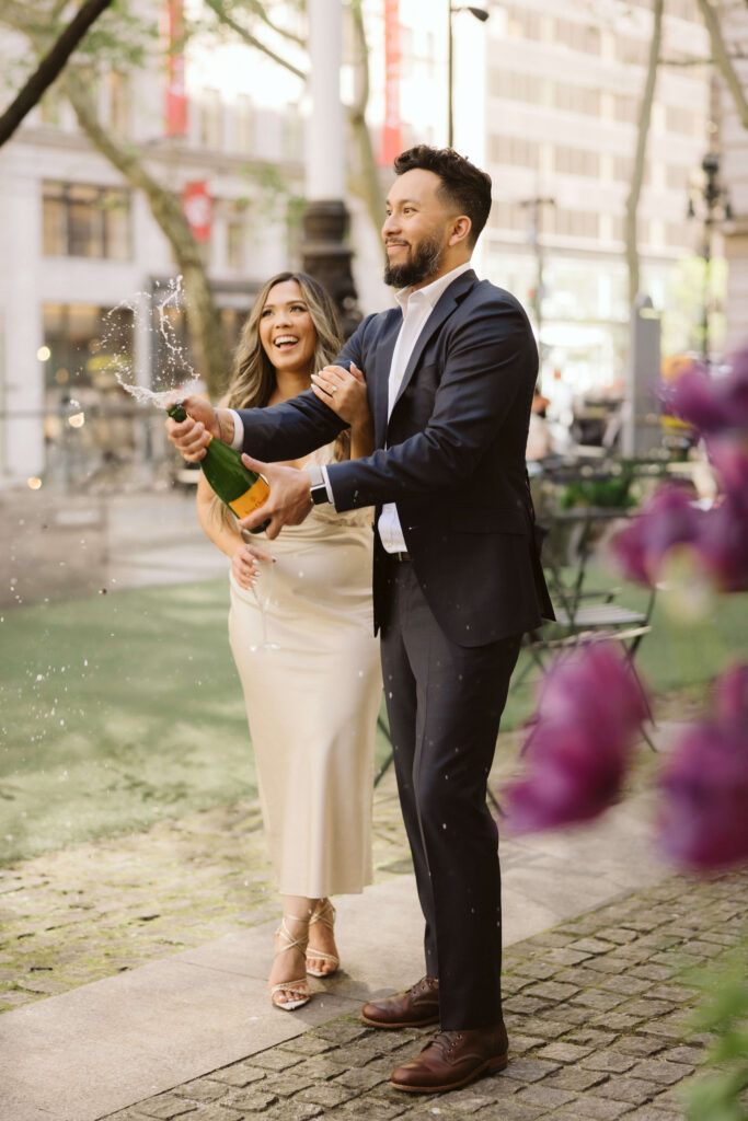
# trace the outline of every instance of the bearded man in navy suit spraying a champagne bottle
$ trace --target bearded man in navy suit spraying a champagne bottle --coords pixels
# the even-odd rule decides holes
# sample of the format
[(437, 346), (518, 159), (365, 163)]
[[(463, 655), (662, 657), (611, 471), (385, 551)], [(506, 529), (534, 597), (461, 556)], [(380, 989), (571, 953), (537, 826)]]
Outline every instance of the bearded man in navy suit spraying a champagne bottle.
[[(187, 458), (210, 435), (270, 483), (268, 536), (316, 502), (375, 507), (375, 623), (403, 815), (425, 918), (426, 975), (370, 1001), (367, 1023), (438, 1023), (393, 1073), (415, 1093), (453, 1090), (501, 1069), (498, 833), (487, 778), (521, 634), (553, 618), (535, 544), (525, 446), (537, 348), (509, 293), (479, 280), (470, 257), (491, 206), (490, 177), (451, 149), (418, 146), (395, 161), (382, 237), (398, 307), (371, 315), (317, 390), (273, 408), (168, 421)], [(334, 438), (333, 402), (351, 364), (363, 371), (377, 451), (307, 470), (298, 458)]]

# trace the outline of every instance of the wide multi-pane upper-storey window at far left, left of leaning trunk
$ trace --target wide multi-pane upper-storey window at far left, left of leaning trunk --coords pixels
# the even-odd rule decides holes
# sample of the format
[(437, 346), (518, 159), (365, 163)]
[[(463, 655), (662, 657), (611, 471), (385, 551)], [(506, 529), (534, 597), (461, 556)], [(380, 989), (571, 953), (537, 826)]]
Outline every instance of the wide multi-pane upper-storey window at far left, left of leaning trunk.
[(46, 180), (41, 215), (46, 257), (132, 257), (129, 191)]

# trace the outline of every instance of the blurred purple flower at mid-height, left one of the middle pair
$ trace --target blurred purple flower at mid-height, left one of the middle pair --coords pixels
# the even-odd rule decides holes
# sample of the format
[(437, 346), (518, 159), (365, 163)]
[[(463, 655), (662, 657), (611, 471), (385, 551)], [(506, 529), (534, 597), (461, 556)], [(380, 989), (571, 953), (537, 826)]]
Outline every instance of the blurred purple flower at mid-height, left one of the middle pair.
[(629, 580), (652, 586), (673, 546), (699, 541), (703, 519), (703, 510), (692, 504), (684, 490), (661, 487), (613, 538), (613, 558)]

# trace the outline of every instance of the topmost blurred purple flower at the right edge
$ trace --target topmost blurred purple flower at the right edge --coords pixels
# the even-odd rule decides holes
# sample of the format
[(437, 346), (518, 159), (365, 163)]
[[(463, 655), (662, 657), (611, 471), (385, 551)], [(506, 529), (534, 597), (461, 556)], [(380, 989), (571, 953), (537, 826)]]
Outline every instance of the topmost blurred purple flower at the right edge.
[(693, 364), (662, 390), (668, 409), (704, 434), (748, 427), (748, 348), (738, 351), (724, 377)]

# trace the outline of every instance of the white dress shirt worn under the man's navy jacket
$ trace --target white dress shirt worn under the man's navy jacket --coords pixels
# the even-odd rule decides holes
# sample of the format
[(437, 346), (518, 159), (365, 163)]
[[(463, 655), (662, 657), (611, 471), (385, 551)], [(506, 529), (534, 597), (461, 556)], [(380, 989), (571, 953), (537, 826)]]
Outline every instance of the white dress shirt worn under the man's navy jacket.
[[(389, 382), (387, 389), (388, 420), (393, 413), (393, 408), (395, 407), (397, 393), (403, 382), (410, 355), (415, 350), (421, 332), (428, 321), (428, 316), (434, 311), (440, 297), (446, 288), (449, 288), (452, 281), (456, 280), (459, 276), (462, 276), (462, 274), (467, 272), (470, 268), (470, 261), (465, 261), (463, 265), (458, 265), (455, 269), (452, 269), (450, 272), (445, 272), (443, 277), (440, 277), (437, 280), (433, 280), (423, 288), (417, 288), (415, 291), (413, 288), (400, 288), (399, 291), (395, 293), (395, 299), (399, 304), (403, 312), (403, 325), (400, 326), (400, 331), (395, 343), (393, 362), (389, 368)], [(243, 426), (239, 414), (233, 409), (230, 409), (230, 411), (233, 416), (233, 442), (231, 446), (240, 448), (243, 443)], [(323, 466), (322, 473), (327, 488), (327, 498), (334, 504), (334, 497), (327, 478), (327, 469)], [(400, 519), (398, 517), (397, 506), (395, 502), (388, 502), (382, 507), (381, 515), (379, 516), (378, 528), (381, 543), (388, 553), (406, 552), (407, 547), (405, 544), (405, 537), (403, 536), (403, 528), (400, 526)]]

